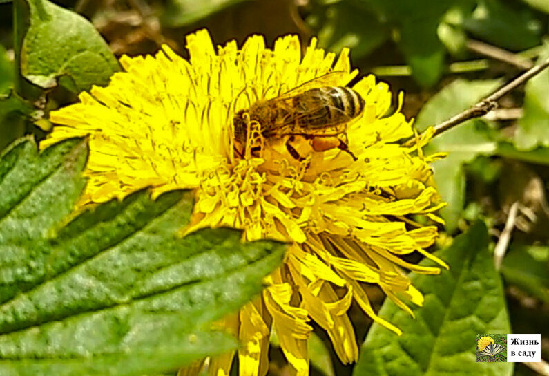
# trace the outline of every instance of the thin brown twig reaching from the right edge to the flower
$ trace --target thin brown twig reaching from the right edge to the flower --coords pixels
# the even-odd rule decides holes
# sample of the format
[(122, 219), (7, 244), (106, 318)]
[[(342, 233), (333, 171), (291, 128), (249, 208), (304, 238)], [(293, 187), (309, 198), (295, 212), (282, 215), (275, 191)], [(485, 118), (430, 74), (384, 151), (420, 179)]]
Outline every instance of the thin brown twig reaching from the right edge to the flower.
[[(510, 93), (510, 91), (512, 91), (514, 88), (517, 88), (517, 86), (528, 81), (528, 79), (534, 77), (535, 75), (543, 71), (543, 69), (547, 68), (548, 66), (549, 66), (549, 59), (546, 59), (543, 63), (537, 66), (534, 66), (533, 68), (529, 69), (525, 73), (519, 75), (519, 77), (513, 79), (508, 84), (501, 86), (501, 88), (495, 91), (492, 95), (485, 97), (483, 100), (474, 104), (469, 109), (466, 109), (465, 111), (453, 116), (452, 118), (446, 120), (445, 122), (436, 124), (434, 126), (433, 137), (449, 129), (452, 129), (454, 128), (454, 126), (461, 124), (467, 120), (470, 120), (473, 118), (480, 118), (481, 116), (486, 115), (493, 109), (497, 108), (498, 106), (497, 101), (501, 97), (503, 97), (503, 95)], [(416, 138), (411, 138), (410, 140), (407, 140), (403, 144), (403, 146), (412, 147), (415, 143), (416, 143)]]

